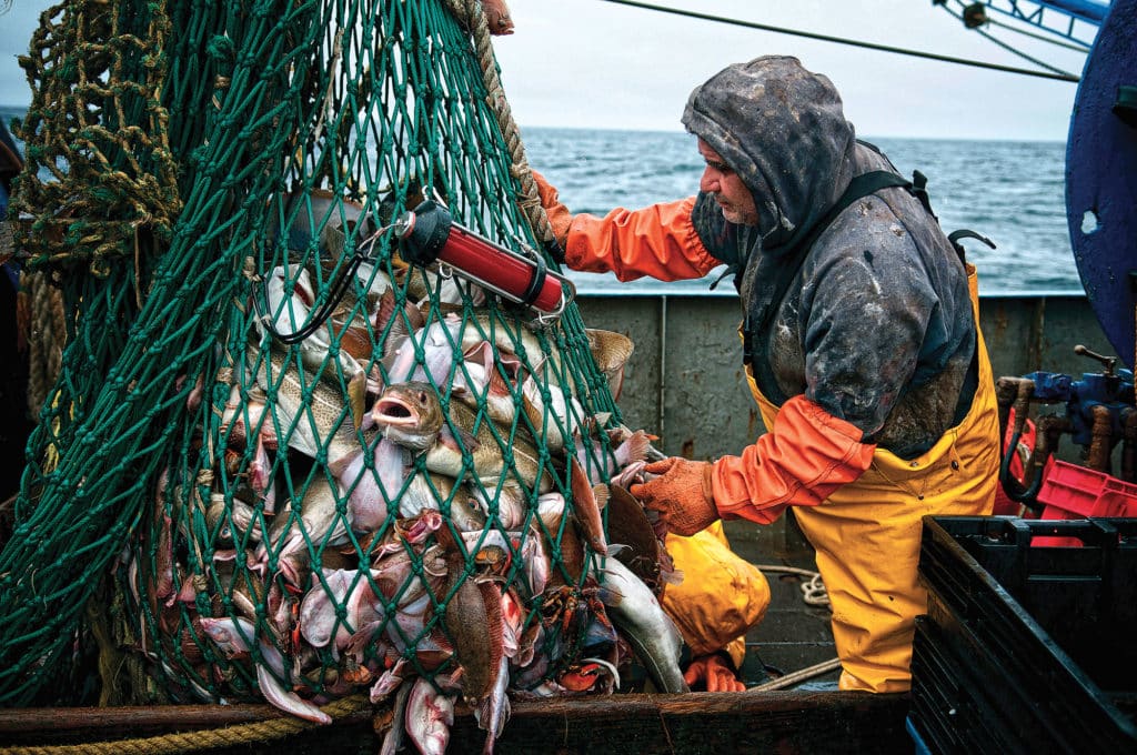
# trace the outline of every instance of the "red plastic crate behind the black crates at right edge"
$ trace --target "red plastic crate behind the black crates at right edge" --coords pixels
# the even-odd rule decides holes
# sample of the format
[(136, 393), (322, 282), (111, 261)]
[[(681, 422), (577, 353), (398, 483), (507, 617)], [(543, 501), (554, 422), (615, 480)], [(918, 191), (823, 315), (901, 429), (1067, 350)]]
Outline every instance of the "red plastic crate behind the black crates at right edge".
[[(1052, 459), (1038, 490), (1046, 507), (1044, 520), (1078, 520), (1089, 516), (1137, 516), (1137, 484), (1118, 480), (1085, 466)], [(1078, 547), (1076, 538), (1035, 538), (1034, 545)]]

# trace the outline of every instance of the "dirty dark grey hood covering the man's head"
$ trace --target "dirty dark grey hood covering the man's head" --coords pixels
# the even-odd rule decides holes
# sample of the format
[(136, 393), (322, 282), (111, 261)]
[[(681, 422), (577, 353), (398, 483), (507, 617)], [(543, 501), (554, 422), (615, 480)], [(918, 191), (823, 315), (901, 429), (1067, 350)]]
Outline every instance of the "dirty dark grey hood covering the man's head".
[(797, 58), (724, 68), (691, 92), (683, 126), (750, 190), (767, 252), (792, 248), (852, 179), (856, 135), (840, 96)]

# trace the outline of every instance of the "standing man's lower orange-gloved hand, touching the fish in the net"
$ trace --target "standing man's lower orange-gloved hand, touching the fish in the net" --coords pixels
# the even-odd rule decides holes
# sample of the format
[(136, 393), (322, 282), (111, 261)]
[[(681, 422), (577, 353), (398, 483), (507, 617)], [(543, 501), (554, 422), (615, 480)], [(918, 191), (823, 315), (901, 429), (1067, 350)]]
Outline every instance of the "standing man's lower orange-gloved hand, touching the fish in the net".
[(672, 456), (645, 466), (644, 472), (659, 476), (633, 484), (629, 492), (644, 508), (659, 512), (669, 532), (690, 537), (719, 520), (711, 492), (711, 470), (709, 462)]

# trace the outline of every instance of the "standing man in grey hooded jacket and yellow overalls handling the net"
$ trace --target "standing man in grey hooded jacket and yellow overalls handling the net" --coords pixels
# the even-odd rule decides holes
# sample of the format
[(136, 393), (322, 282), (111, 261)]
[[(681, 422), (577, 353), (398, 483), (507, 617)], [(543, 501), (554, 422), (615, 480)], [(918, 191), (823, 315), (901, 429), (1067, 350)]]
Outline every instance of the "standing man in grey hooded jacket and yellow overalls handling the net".
[(908, 689), (927, 611), (921, 517), (989, 514), (995, 495), (974, 268), (922, 186), (856, 139), (832, 83), (796, 58), (724, 68), (682, 122), (706, 163), (696, 197), (572, 215), (534, 174), (568, 267), (735, 274), (767, 432), (736, 456), (656, 462), (632, 493), (682, 536), (720, 518), (770, 524), (792, 506), (832, 605), (839, 687)]

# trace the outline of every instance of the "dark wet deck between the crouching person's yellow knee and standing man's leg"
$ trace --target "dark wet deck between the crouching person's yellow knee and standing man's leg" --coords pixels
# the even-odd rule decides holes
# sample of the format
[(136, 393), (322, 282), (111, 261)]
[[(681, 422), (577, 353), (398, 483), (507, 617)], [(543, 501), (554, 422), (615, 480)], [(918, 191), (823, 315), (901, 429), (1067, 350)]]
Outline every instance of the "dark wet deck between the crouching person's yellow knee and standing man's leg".
[[(739, 556), (758, 566), (790, 566), (816, 571), (813, 549), (792, 517), (772, 526), (727, 522), (727, 537)], [(764, 571), (771, 601), (762, 622), (746, 636), (746, 662), (740, 675), (747, 686), (799, 671), (837, 657), (827, 605), (812, 606), (803, 598), (808, 576)], [(804, 685), (836, 685), (840, 671), (814, 677)], [(789, 688), (800, 689), (800, 685)]]

